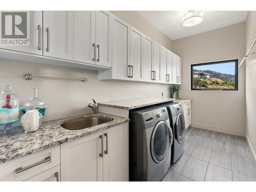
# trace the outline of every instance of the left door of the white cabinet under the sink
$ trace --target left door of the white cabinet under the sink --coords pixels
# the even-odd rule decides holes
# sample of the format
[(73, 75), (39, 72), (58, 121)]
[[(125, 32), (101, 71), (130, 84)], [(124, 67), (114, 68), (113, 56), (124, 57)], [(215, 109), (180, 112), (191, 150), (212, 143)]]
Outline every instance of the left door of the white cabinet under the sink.
[(101, 135), (97, 132), (60, 145), (61, 181), (102, 181)]

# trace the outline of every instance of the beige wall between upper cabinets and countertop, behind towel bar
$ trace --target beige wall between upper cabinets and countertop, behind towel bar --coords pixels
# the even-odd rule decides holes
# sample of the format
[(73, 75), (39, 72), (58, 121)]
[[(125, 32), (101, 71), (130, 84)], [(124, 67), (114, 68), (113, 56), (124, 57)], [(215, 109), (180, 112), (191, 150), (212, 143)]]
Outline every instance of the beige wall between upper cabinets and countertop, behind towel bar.
[[(140, 83), (98, 80), (97, 71), (40, 65), (23, 61), (0, 59), (0, 92), (6, 84), (22, 97), (21, 103), (31, 98), (33, 88), (38, 89), (38, 97), (48, 105), (44, 120), (52, 120), (74, 115), (92, 113), (88, 104), (97, 102), (132, 99), (141, 97), (169, 96), (168, 84)], [(41, 76), (86, 77), (88, 82), (24, 79), (26, 73)]]

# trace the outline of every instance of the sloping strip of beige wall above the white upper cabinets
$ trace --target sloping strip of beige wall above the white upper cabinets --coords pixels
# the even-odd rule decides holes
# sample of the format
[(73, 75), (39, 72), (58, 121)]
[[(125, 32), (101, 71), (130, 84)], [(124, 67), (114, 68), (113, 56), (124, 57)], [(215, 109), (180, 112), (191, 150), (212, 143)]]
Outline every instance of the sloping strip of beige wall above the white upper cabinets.
[(172, 40), (164, 33), (152, 25), (146, 18), (140, 15), (137, 11), (111, 11), (113, 14), (129, 23), (140, 32), (157, 41), (165, 48), (172, 51)]

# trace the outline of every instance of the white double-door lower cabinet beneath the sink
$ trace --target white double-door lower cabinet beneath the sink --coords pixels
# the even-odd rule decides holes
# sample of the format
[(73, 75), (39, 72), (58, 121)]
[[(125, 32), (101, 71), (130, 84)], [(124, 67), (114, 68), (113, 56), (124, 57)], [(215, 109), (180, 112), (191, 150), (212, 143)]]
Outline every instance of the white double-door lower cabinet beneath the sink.
[(61, 144), (61, 181), (127, 181), (128, 123)]

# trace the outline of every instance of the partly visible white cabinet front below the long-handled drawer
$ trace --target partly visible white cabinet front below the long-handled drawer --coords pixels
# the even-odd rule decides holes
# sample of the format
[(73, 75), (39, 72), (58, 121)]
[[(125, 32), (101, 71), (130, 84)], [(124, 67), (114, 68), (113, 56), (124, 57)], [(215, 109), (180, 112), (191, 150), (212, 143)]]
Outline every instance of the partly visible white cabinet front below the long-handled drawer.
[(57, 165), (25, 181), (60, 181), (60, 166)]

